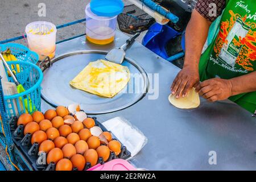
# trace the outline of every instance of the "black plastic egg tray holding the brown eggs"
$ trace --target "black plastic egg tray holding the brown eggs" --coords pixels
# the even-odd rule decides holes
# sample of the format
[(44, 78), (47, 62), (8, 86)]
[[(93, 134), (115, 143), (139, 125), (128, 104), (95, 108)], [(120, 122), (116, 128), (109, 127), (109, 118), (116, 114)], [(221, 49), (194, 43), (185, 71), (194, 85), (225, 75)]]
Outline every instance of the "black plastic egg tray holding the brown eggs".
[[(92, 117), (95, 121), (95, 125), (100, 127), (102, 131), (108, 131), (100, 122), (97, 121), (96, 117)], [(32, 168), (34, 168), (35, 171), (55, 171), (56, 164), (50, 163), (50, 164), (42, 164), (43, 159), (46, 161), (46, 153), (42, 152), (39, 154), (39, 144), (34, 143), (31, 144), (31, 137), (32, 135), (30, 133), (24, 135), (24, 126), (19, 125), (17, 126), (18, 119), (16, 117), (11, 118), (10, 120), (10, 129), (11, 129), (11, 137), (16, 145), (16, 147), (22, 151), (23, 155), (27, 159), (27, 161), (30, 163)], [(111, 131), (109, 131), (111, 133)], [(118, 140), (113, 134), (112, 138), (114, 140)], [(118, 140), (119, 141), (119, 140)], [(119, 141), (120, 142), (120, 141)], [(121, 143), (121, 142), (120, 142)], [(110, 153), (109, 159), (106, 162), (109, 162), (113, 159), (128, 159), (131, 156), (131, 152), (127, 150), (125, 146), (121, 143), (121, 152), (117, 156), (114, 152)], [(97, 164), (104, 164), (104, 160), (102, 158), (98, 159)], [(91, 164), (89, 162), (86, 162), (84, 171), (89, 169), (91, 167)], [(77, 171), (77, 168), (73, 168), (73, 171)]]

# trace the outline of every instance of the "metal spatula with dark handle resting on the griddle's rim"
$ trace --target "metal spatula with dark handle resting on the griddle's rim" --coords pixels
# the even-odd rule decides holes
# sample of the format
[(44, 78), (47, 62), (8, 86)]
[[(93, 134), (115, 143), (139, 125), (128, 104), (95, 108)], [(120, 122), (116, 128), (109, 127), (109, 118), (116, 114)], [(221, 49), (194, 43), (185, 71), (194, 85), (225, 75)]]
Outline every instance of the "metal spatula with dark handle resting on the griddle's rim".
[(130, 46), (131, 43), (141, 34), (141, 32), (137, 32), (130, 39), (126, 40), (126, 43), (119, 48), (114, 48), (106, 55), (105, 59), (111, 61), (113, 63), (122, 64), (123, 59), (125, 59), (125, 48)]

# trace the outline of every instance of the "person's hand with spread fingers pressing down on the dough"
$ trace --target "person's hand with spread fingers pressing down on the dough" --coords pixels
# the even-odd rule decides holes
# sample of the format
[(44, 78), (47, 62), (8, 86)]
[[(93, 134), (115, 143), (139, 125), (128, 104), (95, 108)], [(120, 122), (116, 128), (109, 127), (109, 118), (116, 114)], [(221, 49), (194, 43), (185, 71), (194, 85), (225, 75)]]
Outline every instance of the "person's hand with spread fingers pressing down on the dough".
[(172, 94), (176, 94), (176, 98), (185, 97), (188, 91), (198, 84), (198, 67), (183, 67), (172, 83), (171, 92)]

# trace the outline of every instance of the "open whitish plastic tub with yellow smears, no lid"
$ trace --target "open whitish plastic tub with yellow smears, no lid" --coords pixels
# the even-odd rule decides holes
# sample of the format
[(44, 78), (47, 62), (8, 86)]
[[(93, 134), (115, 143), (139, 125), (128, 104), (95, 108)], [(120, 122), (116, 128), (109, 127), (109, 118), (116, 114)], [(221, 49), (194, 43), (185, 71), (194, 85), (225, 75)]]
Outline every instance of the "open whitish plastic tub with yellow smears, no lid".
[(39, 55), (39, 60), (46, 56), (55, 56), (56, 26), (50, 22), (32, 22), (26, 26), (28, 48)]

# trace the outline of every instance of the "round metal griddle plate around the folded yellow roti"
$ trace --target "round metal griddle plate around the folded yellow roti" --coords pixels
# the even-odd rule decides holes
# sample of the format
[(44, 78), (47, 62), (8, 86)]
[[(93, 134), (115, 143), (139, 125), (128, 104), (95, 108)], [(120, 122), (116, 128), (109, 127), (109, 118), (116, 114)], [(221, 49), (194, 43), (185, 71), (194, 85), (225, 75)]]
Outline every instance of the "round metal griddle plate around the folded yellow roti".
[[(111, 113), (125, 109), (141, 100), (147, 92), (147, 76), (135, 61), (127, 57), (122, 65), (130, 69), (130, 81), (126, 88), (113, 98), (96, 96), (69, 85), (69, 81), (75, 78), (86, 65), (91, 61), (105, 59), (106, 53), (104, 51), (77, 51), (53, 59), (51, 67), (43, 69), (44, 78), (41, 84), (43, 100), (55, 107), (79, 103), (81, 109), (88, 114)], [(140, 84), (138, 84), (138, 75)]]

